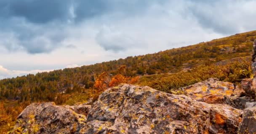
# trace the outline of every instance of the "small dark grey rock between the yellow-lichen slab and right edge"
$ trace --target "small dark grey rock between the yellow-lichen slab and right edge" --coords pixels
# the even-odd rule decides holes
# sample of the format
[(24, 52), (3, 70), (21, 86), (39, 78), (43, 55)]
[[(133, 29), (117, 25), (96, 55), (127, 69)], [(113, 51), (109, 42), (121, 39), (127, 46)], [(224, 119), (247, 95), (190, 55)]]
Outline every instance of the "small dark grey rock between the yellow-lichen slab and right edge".
[(233, 108), (237, 108), (237, 109), (245, 109), (246, 108), (246, 104), (248, 102), (253, 102), (254, 100), (247, 97), (247, 96), (243, 96), (243, 97), (238, 97), (237, 95), (233, 95), (233, 96), (224, 96), (224, 104), (227, 104), (229, 106), (232, 106)]

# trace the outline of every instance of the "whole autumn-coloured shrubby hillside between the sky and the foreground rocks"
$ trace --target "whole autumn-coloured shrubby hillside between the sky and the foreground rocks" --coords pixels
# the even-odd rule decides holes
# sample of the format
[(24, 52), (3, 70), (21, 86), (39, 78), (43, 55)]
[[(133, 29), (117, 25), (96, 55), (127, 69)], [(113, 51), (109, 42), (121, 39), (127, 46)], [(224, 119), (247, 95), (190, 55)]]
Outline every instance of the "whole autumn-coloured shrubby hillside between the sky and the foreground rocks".
[[(137, 84), (168, 93), (209, 77), (240, 82), (250, 77), (251, 63), (246, 57), (251, 55), (254, 39), (256, 31), (251, 31), (155, 54), (0, 80), (0, 108), (4, 109), (0, 128), (11, 129), (16, 116), (32, 102), (87, 101), (97, 92), (94, 82), (99, 75), (107, 72), (109, 78), (116, 76), (123, 65), (125, 77), (140, 76)], [(229, 59), (232, 62), (227, 62)]]

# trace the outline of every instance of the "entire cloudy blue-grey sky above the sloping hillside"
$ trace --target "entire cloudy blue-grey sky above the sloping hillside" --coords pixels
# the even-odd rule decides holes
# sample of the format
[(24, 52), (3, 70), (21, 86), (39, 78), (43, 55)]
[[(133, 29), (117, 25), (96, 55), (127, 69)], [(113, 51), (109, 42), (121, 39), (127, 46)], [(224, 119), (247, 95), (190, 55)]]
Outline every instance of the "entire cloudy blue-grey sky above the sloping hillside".
[(0, 0), (0, 79), (256, 30), (256, 0)]

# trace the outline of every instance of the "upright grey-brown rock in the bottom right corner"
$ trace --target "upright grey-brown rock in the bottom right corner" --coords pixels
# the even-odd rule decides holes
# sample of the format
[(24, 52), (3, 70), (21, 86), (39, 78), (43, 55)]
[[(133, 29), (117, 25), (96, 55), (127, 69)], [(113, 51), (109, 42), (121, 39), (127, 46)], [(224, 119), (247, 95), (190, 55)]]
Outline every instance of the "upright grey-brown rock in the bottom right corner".
[(244, 110), (238, 134), (256, 134), (256, 107), (249, 107)]

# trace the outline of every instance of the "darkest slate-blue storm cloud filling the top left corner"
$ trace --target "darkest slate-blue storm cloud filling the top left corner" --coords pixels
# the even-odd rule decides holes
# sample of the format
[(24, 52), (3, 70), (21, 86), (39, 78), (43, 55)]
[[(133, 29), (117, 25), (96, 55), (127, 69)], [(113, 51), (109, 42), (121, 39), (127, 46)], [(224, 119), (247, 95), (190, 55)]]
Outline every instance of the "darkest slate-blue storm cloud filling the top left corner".
[(70, 5), (70, 0), (1, 0), (0, 15), (6, 19), (24, 17), (32, 23), (64, 21), (69, 16)]

